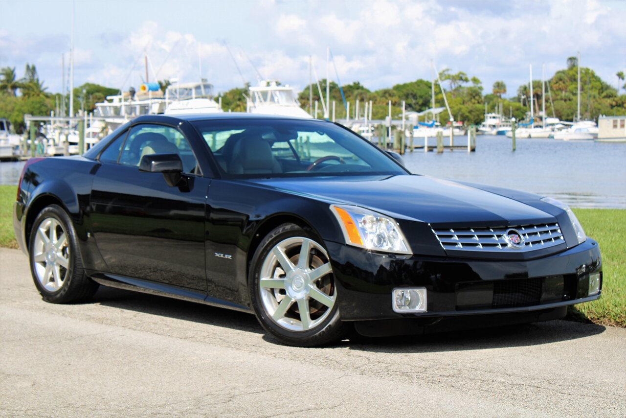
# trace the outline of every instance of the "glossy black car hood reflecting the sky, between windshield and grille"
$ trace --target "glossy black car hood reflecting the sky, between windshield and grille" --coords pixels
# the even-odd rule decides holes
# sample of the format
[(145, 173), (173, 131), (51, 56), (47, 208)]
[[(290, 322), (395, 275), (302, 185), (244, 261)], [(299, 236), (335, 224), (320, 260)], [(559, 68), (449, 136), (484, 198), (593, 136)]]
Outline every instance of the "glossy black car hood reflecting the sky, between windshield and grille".
[[(368, 207), (396, 218), (429, 224), (478, 227), (555, 222), (554, 216), (530, 206), (528, 202), (504, 196), (505, 189), (498, 189), (496, 194), (480, 189), (477, 185), (424, 175), (297, 177), (249, 181), (290, 194), (329, 203)], [(511, 191), (511, 194), (515, 192)]]

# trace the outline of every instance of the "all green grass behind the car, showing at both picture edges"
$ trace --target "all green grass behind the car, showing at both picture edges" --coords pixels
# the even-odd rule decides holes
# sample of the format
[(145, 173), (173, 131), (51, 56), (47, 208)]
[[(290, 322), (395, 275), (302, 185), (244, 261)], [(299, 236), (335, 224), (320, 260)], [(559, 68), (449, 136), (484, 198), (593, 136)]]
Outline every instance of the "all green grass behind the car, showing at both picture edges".
[[(0, 185), (0, 246), (18, 248), (13, 234), (14, 185)], [(626, 211), (574, 209), (585, 233), (600, 243), (603, 264), (602, 297), (576, 305), (570, 318), (626, 327)]]

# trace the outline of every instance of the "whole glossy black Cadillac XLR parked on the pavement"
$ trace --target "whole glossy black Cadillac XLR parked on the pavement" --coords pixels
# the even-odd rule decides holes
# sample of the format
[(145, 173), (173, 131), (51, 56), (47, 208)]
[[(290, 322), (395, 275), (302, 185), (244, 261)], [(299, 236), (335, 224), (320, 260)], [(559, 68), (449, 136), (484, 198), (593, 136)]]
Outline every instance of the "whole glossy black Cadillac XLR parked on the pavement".
[(290, 345), (562, 318), (602, 288), (564, 204), (411, 174), (321, 120), (136, 118), (28, 160), (14, 228), (46, 301), (145, 291), (254, 312)]

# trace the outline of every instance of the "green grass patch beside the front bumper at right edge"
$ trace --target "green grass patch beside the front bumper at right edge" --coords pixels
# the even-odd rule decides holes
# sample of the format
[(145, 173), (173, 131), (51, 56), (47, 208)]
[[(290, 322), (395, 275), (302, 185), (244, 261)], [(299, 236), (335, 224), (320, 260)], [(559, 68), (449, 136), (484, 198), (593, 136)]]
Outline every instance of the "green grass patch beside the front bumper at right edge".
[(602, 297), (575, 305), (574, 311), (601, 325), (626, 327), (626, 211), (574, 209), (587, 236), (602, 252)]

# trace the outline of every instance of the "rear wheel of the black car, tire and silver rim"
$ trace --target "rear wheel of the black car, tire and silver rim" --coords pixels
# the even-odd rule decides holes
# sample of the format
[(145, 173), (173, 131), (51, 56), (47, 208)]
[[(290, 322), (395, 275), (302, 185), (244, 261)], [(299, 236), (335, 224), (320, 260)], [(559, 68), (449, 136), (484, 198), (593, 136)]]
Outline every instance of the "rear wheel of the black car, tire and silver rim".
[[(53, 234), (58, 237), (56, 241), (59, 248), (50, 244)], [(30, 234), (28, 256), (34, 284), (44, 301), (86, 301), (98, 290), (98, 284), (88, 278), (83, 269), (78, 238), (71, 219), (58, 205), (45, 207), (37, 215)]]

